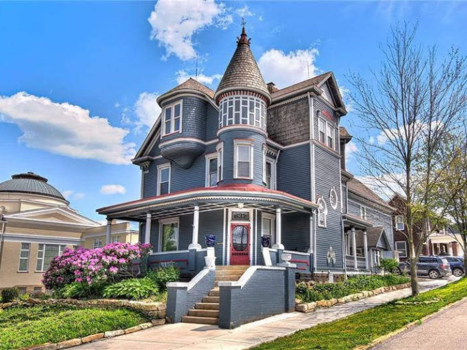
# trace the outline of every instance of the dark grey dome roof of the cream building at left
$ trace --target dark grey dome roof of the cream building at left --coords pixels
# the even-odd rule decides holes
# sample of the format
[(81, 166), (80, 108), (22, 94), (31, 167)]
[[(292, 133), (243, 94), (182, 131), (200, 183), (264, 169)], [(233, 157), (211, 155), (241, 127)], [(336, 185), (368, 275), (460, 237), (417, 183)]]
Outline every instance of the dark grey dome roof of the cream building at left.
[(28, 172), (12, 175), (12, 179), (0, 183), (0, 192), (30, 193), (63, 199), (59, 190), (47, 183), (45, 177)]

